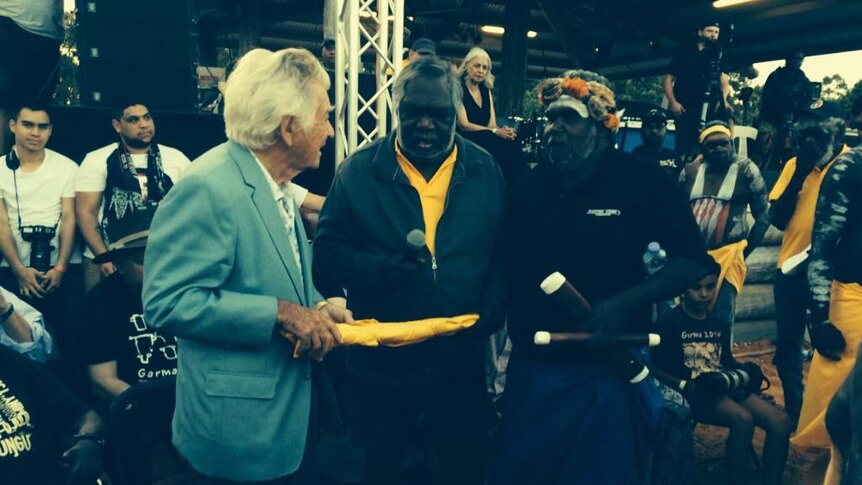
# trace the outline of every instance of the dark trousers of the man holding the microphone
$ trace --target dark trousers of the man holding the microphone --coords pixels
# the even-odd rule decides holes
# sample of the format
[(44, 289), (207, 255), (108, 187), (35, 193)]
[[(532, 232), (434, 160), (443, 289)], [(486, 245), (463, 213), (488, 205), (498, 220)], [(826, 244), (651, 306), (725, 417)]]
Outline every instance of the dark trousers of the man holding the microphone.
[(348, 379), (347, 426), (365, 448), (363, 484), (412, 483), (402, 467), (408, 445), (417, 437), (420, 446), (430, 445), (438, 463), (432, 483), (485, 483), (490, 405), (481, 362), (475, 367), (415, 386)]

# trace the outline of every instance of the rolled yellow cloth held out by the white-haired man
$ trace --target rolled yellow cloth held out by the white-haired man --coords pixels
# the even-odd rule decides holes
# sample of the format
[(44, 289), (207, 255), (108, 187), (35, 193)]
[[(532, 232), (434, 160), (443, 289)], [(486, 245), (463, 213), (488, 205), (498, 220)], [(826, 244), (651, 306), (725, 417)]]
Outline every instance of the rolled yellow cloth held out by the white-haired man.
[[(403, 347), (418, 344), (433, 337), (452, 335), (470, 328), (479, 320), (478, 313), (468, 313), (456, 317), (427, 318), (409, 322), (381, 323), (373, 318), (356, 320), (353, 323), (339, 323), (342, 345), (362, 345), (364, 347)], [(293, 349), (293, 356), (299, 357), (301, 342)]]

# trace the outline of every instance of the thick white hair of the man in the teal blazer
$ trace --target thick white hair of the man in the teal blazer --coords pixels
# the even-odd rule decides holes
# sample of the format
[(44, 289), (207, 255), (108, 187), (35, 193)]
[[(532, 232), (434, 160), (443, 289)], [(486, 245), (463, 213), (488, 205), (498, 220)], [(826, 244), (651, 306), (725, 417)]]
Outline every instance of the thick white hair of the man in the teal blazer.
[(329, 76), (305, 49), (248, 52), (225, 87), (228, 139), (252, 150), (265, 150), (278, 141), (285, 116), (296, 117), (300, 129), (309, 130), (319, 108), (318, 96), (311, 90), (314, 83), (329, 89)]

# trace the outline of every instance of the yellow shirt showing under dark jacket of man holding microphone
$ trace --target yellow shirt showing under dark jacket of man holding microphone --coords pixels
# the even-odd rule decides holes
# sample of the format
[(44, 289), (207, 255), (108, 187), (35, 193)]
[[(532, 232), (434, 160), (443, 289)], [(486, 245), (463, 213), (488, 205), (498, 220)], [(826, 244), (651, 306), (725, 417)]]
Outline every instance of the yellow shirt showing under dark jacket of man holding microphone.
[(431, 180), (425, 180), (422, 173), (407, 160), (395, 142), (395, 160), (398, 166), (407, 176), (410, 185), (419, 193), (419, 202), (422, 204), (422, 218), (425, 220), (425, 245), (434, 256), (435, 241), (437, 237), (437, 223), (443, 215), (446, 206), (446, 195), (449, 193), (449, 182), (452, 181), (452, 172), (455, 168), (455, 159), (458, 158), (458, 147), (452, 148), (452, 153), (443, 160), (437, 173)]

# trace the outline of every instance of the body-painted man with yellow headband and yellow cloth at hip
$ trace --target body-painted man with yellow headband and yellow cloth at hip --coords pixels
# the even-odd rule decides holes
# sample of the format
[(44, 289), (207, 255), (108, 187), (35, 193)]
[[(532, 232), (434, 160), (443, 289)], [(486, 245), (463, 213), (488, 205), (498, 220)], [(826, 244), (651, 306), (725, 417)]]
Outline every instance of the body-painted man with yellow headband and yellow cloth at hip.
[[(745, 282), (745, 258), (769, 229), (769, 204), (760, 170), (735, 153), (731, 136), (723, 121), (707, 123), (699, 140), (703, 155), (686, 165), (679, 183), (688, 195), (709, 254), (721, 265), (712, 312), (732, 331), (736, 297)], [(749, 210), (754, 217), (751, 228)]]

